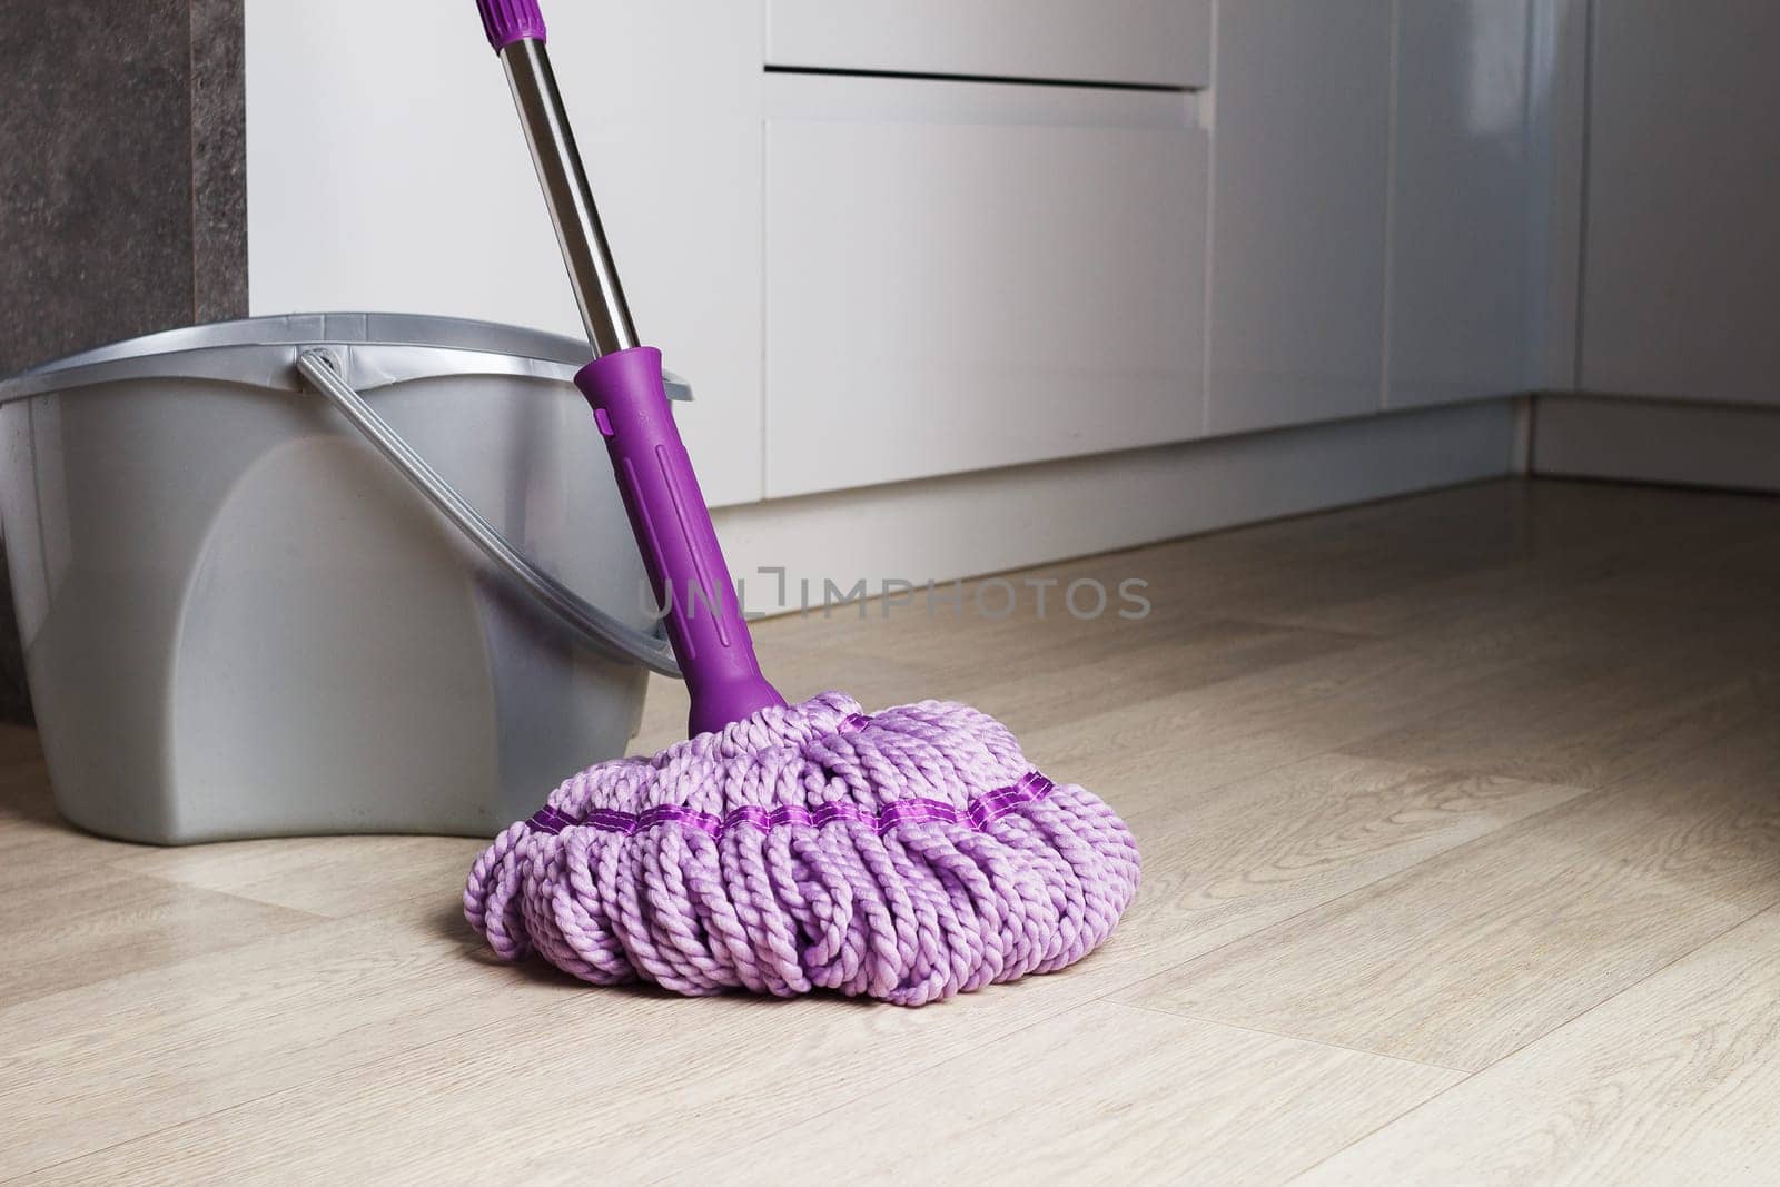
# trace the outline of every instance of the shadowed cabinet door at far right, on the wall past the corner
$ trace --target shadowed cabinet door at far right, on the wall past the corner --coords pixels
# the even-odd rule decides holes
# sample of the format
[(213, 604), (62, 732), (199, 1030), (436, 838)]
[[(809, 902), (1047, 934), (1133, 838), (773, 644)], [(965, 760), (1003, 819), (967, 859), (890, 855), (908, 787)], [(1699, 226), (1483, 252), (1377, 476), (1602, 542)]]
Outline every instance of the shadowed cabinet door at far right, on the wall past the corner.
[(1581, 386), (1780, 404), (1780, 5), (1595, 5)]

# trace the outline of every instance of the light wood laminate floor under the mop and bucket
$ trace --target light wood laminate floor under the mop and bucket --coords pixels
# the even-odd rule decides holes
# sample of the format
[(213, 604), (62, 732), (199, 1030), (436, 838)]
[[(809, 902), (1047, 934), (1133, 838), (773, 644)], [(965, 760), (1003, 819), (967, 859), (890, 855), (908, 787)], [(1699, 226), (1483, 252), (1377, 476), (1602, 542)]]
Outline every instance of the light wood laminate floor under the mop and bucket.
[(1137, 833), (1098, 954), (920, 1011), (502, 966), (481, 842), (98, 840), (0, 735), (0, 1180), (1780, 1178), (1780, 500), (1492, 482), (1011, 580), (758, 632)]

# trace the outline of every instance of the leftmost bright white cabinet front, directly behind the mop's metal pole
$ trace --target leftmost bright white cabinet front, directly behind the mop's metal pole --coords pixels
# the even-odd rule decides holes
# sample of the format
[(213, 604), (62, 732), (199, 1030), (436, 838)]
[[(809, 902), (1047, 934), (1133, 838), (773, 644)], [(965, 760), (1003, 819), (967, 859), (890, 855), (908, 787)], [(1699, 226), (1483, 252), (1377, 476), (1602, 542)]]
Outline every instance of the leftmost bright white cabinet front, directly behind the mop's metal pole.
[[(760, 7), (546, 4), (644, 340), (716, 504), (760, 498)], [(253, 313), (393, 310), (582, 335), (468, 0), (247, 0)]]

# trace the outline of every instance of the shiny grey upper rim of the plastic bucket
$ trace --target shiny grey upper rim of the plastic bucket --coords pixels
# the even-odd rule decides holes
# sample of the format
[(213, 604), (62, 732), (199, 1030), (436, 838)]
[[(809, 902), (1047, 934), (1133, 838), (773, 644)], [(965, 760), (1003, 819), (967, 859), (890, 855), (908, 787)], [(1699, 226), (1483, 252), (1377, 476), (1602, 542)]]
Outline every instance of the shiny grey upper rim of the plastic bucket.
[[(258, 388), (295, 388), (299, 349), (335, 347), (370, 361), (360, 386), (411, 379), (504, 374), (573, 379), (593, 352), (580, 338), (527, 326), (425, 313), (272, 313), (164, 329), (78, 351), (0, 381), (0, 404), (98, 383), (130, 379), (221, 379)], [(678, 375), (668, 395), (691, 399)]]

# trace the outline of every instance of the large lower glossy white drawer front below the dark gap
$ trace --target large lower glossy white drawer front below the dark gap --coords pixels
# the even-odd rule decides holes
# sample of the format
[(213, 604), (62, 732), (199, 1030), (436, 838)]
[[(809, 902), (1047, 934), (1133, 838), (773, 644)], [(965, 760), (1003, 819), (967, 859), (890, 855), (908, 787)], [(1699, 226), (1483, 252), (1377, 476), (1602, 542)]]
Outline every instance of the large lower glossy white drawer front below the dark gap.
[(1191, 96), (769, 84), (769, 497), (1202, 431)]

